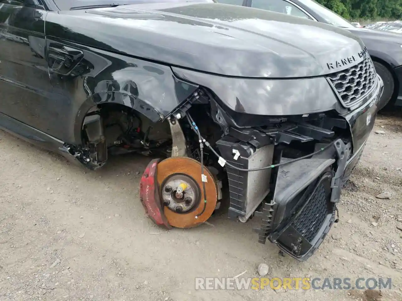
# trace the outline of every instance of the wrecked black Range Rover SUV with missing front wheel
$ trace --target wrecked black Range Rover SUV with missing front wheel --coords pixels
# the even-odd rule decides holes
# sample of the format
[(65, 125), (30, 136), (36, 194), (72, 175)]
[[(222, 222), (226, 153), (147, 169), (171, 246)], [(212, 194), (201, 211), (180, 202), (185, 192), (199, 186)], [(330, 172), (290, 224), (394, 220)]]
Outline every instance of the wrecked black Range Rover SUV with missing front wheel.
[(0, 0), (0, 29), (2, 129), (90, 169), (149, 155), (134, 197), (157, 224), (202, 224), (227, 193), (229, 218), (298, 260), (383, 91), (349, 31), (242, 6)]

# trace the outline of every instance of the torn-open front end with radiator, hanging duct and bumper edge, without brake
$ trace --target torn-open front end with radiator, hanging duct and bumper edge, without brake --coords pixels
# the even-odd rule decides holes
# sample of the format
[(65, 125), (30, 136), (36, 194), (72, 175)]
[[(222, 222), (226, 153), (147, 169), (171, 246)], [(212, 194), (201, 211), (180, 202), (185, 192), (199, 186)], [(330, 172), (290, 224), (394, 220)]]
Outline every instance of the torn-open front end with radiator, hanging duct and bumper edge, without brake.
[[(223, 189), (228, 190), (228, 217), (241, 222), (260, 218), (260, 227), (255, 229), (260, 243), (265, 244), (268, 238), (285, 253), (304, 261), (337, 221), (341, 189), (373, 128), (383, 89), (381, 79), (373, 74), (367, 93), (360, 93), (353, 104), (337, 100), (321, 112), (239, 113), (228, 108), (212, 89), (200, 87), (196, 97), (170, 118), (180, 122), (187, 155), (197, 160), (197, 131), (201, 133), (199, 139), (207, 146), (205, 166), (218, 171)], [(331, 89), (333, 85), (326, 80)], [(341, 97), (335, 89), (331, 92), (333, 98)], [(219, 130), (211, 129), (211, 119)], [(187, 128), (193, 129), (193, 135)]]

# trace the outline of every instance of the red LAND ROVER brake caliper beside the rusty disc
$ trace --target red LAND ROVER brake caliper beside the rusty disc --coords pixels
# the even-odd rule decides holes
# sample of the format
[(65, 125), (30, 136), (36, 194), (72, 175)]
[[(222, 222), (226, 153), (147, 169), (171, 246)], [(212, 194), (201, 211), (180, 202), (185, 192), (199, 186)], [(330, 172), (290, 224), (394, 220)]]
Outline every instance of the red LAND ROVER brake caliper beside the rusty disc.
[(160, 159), (152, 160), (142, 174), (139, 183), (139, 199), (144, 206), (146, 214), (158, 225), (171, 229), (166, 216), (163, 213), (162, 203), (159, 197), (157, 181), (157, 168)]

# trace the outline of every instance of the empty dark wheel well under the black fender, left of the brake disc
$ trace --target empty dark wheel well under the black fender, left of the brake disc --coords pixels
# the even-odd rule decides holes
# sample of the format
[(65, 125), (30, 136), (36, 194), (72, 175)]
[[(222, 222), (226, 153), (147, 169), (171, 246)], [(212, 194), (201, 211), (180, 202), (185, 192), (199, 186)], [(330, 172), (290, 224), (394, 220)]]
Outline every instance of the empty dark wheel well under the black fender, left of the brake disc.
[(96, 166), (103, 165), (110, 155), (168, 156), (172, 149), (167, 120), (154, 122), (130, 107), (115, 103), (99, 104), (86, 112), (81, 138), (86, 161)]

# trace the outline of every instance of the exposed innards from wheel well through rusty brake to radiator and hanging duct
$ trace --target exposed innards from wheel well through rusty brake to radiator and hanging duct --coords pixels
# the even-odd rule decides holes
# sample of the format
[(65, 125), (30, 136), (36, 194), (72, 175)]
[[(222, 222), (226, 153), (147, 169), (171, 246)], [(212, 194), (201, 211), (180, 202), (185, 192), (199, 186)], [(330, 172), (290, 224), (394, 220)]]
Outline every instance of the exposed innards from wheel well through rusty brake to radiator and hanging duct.
[(353, 149), (349, 121), (336, 111), (238, 114), (200, 88), (161, 123), (118, 105), (98, 106), (84, 120), (87, 147), (78, 156), (95, 168), (107, 154), (157, 158), (140, 184), (142, 205), (156, 224), (191, 228), (228, 201), (229, 218), (260, 219), (260, 243), (268, 238), (306, 260), (336, 222), (354, 166), (348, 170), (348, 160), (363, 150), (364, 144)]

